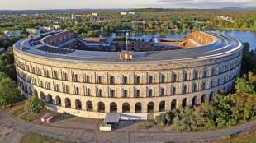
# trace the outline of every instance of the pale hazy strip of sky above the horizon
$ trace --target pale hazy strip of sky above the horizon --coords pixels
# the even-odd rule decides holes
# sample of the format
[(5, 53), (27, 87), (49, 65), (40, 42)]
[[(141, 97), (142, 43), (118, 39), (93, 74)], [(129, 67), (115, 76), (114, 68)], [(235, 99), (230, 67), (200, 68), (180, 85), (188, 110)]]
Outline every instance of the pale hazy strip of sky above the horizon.
[(256, 7), (256, 0), (0, 0), (1, 10)]

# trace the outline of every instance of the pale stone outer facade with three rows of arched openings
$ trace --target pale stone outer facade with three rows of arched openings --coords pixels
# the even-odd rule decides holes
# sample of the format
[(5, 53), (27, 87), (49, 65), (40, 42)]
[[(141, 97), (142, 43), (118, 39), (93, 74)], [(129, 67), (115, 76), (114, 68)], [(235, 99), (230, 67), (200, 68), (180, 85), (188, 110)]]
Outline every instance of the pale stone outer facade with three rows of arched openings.
[[(111, 103), (116, 103), (117, 113), (123, 113), (122, 105), (129, 104), (130, 115), (137, 115), (140, 119), (147, 118), (148, 114), (155, 116), (161, 111), (170, 110), (172, 101), (176, 101), (174, 108), (182, 105), (183, 99), (187, 99), (186, 105), (196, 105), (201, 104), (201, 100), (206, 102), (211, 99), (211, 95), (217, 90), (230, 91), (235, 78), (239, 76), (242, 59), (241, 52), (221, 58), (176, 63), (72, 62), (39, 58), (18, 50), (14, 50), (14, 55), (22, 92), (28, 96), (38, 95), (41, 99), (45, 96), (45, 102), (47, 102), (46, 97), (49, 95), (52, 98), (53, 102), (51, 104), (53, 105), (56, 104), (56, 97), (58, 96), (61, 99), (61, 105), (51, 106), (52, 109), (80, 117), (103, 118), (106, 113), (111, 112)], [(212, 74), (213, 69), (214, 74)], [(187, 81), (183, 80), (184, 71), (187, 72)], [(198, 79), (194, 77), (196, 71), (198, 72)], [(205, 71), (206, 75), (204, 75)], [(55, 78), (55, 72), (57, 78)], [(65, 74), (67, 75), (66, 79), (64, 78)], [(173, 81), (173, 74), (177, 77), (176, 81)], [(87, 75), (90, 76), (90, 82), (85, 82), (85, 76)], [(164, 75), (163, 83), (160, 82), (161, 75)], [(101, 83), (97, 82), (99, 76), (102, 76)], [(115, 78), (115, 83), (110, 82), (111, 76)], [(121, 82), (123, 76), (127, 76), (126, 84)], [(140, 77), (140, 83), (135, 83), (138, 76)], [(153, 77), (152, 84), (149, 83), (149, 76)], [(75, 80), (76, 78), (77, 80)], [(211, 81), (214, 82), (212, 86)], [(202, 89), (203, 83), (205, 83), (205, 89)], [(197, 84), (196, 90), (193, 90), (194, 84)], [(57, 85), (59, 90), (56, 90)], [(186, 93), (183, 93), (184, 85), (187, 85)], [(67, 93), (66, 87), (69, 88)], [(176, 88), (174, 95), (171, 94), (172, 87)], [(78, 92), (75, 90), (77, 88)], [(91, 90), (90, 95), (87, 95), (88, 89)], [(152, 97), (147, 96), (147, 89), (152, 90)], [(159, 94), (160, 89), (164, 89), (162, 95)], [(101, 96), (99, 90), (102, 90)], [(111, 90), (115, 90), (114, 97), (111, 97)], [(127, 97), (122, 96), (124, 90), (128, 92)], [(139, 97), (136, 97), (136, 90), (140, 90)], [(65, 99), (70, 100), (70, 108), (65, 108)], [(195, 101), (192, 101), (193, 99)], [(76, 108), (76, 100), (81, 102), (82, 108)], [(92, 102), (92, 111), (87, 111), (88, 101)], [(105, 104), (104, 113), (98, 112), (99, 102)], [(149, 102), (154, 103), (153, 113), (148, 113)], [(160, 108), (161, 102), (164, 102), (162, 108)], [(141, 113), (135, 113), (136, 103), (141, 104)]]

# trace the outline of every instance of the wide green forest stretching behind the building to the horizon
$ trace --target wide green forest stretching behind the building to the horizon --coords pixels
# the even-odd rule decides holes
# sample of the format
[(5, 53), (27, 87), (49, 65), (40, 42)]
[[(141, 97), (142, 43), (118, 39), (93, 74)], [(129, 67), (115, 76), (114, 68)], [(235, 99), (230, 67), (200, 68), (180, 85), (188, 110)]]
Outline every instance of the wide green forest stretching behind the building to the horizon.
[[(72, 30), (83, 37), (111, 35), (116, 30), (131, 30), (135, 34), (189, 32), (191, 30), (251, 30), (256, 31), (256, 11), (193, 10), (193, 9), (135, 9), (124, 10), (135, 15), (121, 16), (120, 11), (40, 13), (38, 15), (17, 15), (0, 19), (0, 35), (4, 30), (20, 29), (37, 25), (51, 26), (55, 23), (63, 29)], [(71, 19), (71, 15), (84, 15)]]

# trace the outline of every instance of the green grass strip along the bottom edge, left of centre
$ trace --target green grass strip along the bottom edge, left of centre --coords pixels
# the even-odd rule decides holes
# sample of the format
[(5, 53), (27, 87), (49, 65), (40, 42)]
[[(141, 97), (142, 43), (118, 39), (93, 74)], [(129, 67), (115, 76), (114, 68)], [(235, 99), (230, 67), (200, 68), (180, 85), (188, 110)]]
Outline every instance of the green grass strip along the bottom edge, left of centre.
[(31, 132), (27, 132), (22, 138), (20, 143), (71, 143), (68, 141), (60, 141), (46, 136), (38, 136)]

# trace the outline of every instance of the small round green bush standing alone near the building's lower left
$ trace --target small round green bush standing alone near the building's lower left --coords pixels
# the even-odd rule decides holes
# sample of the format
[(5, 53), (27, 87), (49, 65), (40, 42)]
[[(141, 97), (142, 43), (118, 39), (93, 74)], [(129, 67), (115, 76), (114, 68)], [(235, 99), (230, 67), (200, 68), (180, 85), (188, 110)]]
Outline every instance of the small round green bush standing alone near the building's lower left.
[(45, 103), (36, 96), (32, 96), (30, 99), (26, 100), (25, 111), (27, 113), (40, 113), (40, 111), (45, 107)]

